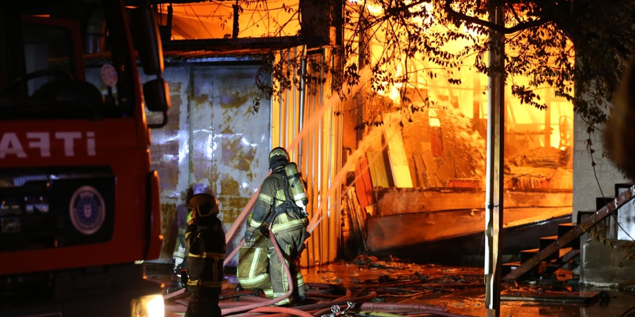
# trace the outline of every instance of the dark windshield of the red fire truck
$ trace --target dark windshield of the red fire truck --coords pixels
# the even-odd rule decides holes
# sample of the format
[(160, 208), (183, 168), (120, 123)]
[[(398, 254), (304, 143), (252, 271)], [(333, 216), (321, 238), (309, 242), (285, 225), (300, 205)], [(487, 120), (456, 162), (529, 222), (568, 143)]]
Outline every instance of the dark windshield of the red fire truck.
[(134, 115), (140, 87), (119, 1), (34, 3), (0, 4), (14, 30), (0, 32), (0, 120)]

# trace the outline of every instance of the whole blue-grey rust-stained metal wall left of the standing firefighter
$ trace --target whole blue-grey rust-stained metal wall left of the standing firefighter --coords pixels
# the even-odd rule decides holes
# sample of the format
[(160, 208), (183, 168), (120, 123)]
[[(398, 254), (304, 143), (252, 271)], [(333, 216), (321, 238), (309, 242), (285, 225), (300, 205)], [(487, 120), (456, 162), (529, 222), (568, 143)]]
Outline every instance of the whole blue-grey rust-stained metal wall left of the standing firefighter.
[[(161, 179), (167, 242), (184, 224), (189, 193), (216, 195), (219, 217), (228, 230), (265, 178), (271, 102), (263, 100), (255, 86), (257, 71), (257, 65), (166, 67), (170, 120), (162, 129), (152, 130), (150, 151)], [(260, 100), (256, 113), (252, 112), (255, 100)], [(241, 238), (234, 236), (228, 250)], [(172, 252), (166, 246), (161, 257), (169, 259)]]

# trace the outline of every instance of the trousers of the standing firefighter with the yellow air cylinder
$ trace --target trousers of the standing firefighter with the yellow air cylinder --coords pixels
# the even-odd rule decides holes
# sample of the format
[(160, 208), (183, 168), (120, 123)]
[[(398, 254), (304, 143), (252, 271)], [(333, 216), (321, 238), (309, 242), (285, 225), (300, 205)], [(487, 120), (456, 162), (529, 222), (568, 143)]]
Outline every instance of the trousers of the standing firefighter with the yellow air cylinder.
[[(280, 217), (286, 216), (286, 214)], [(300, 268), (297, 267), (297, 259), (304, 248), (304, 238), (306, 230), (306, 218), (304, 219), (281, 219), (279, 224), (274, 224), (272, 231), (276, 238), (276, 242), (283, 252), (284, 262), (289, 266), (291, 276), (287, 276), (284, 271), (282, 262), (277, 256), (276, 249), (273, 245), (269, 248), (269, 274), (271, 275), (271, 287), (273, 288), (274, 298), (281, 297), (289, 290), (288, 278), (291, 277), (294, 292), (291, 297), (278, 302), (277, 305), (288, 304), (290, 299), (299, 299), (305, 295), (304, 280)], [(278, 228), (276, 228), (278, 227)], [(279, 229), (279, 230), (276, 230)]]

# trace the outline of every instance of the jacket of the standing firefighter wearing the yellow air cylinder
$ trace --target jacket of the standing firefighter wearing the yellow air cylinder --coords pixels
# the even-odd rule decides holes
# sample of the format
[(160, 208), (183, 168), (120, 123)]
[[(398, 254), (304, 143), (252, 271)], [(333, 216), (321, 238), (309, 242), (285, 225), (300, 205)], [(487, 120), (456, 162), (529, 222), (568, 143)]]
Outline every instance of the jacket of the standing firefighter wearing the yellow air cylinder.
[(308, 219), (298, 216), (296, 212), (300, 210), (295, 205), (288, 204), (285, 188), (284, 166), (280, 166), (274, 169), (260, 185), (258, 199), (246, 230), (253, 232), (261, 228), (264, 223), (271, 223), (271, 231), (276, 234), (307, 226)]

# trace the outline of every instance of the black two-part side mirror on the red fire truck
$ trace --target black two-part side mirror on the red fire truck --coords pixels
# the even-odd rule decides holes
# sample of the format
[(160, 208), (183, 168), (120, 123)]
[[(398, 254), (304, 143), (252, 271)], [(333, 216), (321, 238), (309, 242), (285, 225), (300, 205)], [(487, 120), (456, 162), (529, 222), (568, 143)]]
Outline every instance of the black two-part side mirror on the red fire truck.
[(159, 25), (154, 19), (150, 6), (139, 6), (131, 12), (132, 34), (139, 59), (146, 75), (156, 75), (144, 84), (145, 107), (152, 112), (163, 112), (163, 122), (148, 124), (150, 128), (163, 127), (168, 123), (170, 109), (170, 89), (161, 76), (163, 74), (163, 48), (159, 35)]

